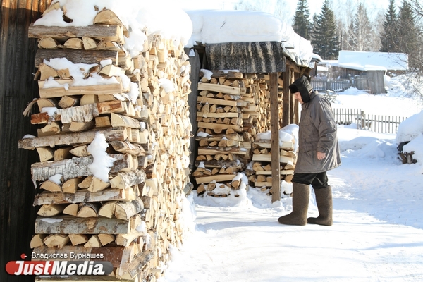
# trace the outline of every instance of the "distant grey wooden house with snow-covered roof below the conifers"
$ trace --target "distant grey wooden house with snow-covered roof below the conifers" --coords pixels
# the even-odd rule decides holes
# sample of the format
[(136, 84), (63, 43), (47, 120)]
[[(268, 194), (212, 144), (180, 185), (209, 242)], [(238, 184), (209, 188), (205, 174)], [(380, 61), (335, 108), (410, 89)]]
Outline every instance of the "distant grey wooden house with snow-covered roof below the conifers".
[(408, 69), (404, 53), (339, 51), (338, 60), (321, 61), (317, 78), (350, 80), (353, 87), (373, 94), (386, 93), (384, 75), (398, 75)]

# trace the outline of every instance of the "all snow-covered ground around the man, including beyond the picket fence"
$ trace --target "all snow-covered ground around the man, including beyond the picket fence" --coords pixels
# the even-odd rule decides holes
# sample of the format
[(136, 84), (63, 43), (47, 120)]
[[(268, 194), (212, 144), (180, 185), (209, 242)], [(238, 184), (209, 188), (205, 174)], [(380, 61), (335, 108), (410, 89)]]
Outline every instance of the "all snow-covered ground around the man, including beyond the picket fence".
[[(395, 82), (388, 94), (348, 90), (333, 107), (422, 111)], [(333, 226), (281, 225), (292, 200), (271, 204), (255, 188), (228, 198), (193, 192), (183, 213), (192, 232), (171, 250), (160, 281), (423, 281), (423, 165), (400, 163), (396, 135), (340, 125), (338, 140), (343, 164), (328, 173)], [(311, 197), (309, 216), (316, 214)]]

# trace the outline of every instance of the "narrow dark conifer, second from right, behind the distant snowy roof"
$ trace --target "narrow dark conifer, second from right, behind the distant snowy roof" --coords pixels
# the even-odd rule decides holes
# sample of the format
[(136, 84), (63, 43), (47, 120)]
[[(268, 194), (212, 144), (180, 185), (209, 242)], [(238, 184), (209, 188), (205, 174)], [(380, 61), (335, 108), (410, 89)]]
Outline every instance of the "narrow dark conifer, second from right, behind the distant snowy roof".
[(396, 38), (398, 38), (398, 16), (394, 6), (395, 0), (389, 0), (386, 20), (384, 20), (384, 31), (381, 33), (381, 52), (397, 51)]

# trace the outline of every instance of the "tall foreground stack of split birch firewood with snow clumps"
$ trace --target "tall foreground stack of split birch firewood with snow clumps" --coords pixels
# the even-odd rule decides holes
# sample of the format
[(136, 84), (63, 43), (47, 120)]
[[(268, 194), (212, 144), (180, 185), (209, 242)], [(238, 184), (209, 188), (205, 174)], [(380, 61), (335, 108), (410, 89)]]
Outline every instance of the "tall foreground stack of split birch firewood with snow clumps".
[[(60, 8), (56, 2), (46, 13)], [(36, 104), (31, 123), (39, 129), (19, 141), (39, 154), (31, 166), (39, 211), (30, 245), (35, 260), (73, 252), (109, 261), (114, 272), (107, 281), (155, 281), (170, 245), (183, 239), (190, 64), (181, 44), (159, 35), (149, 35), (144, 50), (131, 56), (124, 35), (128, 30), (110, 10), (86, 27), (30, 26), (29, 36), (39, 39), (39, 98), (24, 114)], [(63, 62), (69, 68), (56, 68)], [(93, 173), (104, 166), (92, 149), (102, 141), (111, 160), (106, 179)]]

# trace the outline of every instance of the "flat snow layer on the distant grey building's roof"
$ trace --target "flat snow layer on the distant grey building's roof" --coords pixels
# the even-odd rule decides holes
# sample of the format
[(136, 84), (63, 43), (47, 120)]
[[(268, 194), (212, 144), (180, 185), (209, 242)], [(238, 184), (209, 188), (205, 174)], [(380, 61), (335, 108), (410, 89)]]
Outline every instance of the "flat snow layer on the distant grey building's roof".
[(404, 53), (339, 51), (338, 66), (361, 71), (405, 71), (408, 55)]

